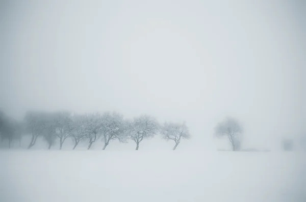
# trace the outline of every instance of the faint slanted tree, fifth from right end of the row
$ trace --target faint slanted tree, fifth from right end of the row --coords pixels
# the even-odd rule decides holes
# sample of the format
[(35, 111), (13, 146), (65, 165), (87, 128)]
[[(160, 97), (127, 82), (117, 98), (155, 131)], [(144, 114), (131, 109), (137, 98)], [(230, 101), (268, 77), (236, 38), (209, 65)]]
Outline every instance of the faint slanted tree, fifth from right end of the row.
[(71, 135), (70, 137), (74, 141), (74, 150), (80, 143), (80, 141), (86, 138), (86, 116), (74, 114), (71, 123)]

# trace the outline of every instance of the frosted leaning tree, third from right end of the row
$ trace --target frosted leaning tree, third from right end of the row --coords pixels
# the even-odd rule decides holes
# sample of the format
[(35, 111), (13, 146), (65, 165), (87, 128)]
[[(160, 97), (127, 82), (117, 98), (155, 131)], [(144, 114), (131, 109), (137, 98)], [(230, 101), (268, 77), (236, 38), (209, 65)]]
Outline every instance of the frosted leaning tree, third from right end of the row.
[(125, 123), (123, 116), (117, 112), (105, 112), (102, 116), (101, 135), (104, 141), (103, 150), (109, 145), (111, 140), (118, 139), (125, 141)]

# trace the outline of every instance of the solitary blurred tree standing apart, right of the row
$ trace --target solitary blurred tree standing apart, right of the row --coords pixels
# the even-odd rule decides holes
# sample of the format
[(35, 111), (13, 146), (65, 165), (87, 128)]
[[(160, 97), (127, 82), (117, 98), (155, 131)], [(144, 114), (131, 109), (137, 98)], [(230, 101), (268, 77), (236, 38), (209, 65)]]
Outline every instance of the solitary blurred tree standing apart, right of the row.
[(215, 136), (227, 136), (228, 140), (231, 142), (233, 151), (240, 150), (242, 132), (242, 126), (232, 117), (225, 118), (215, 127)]

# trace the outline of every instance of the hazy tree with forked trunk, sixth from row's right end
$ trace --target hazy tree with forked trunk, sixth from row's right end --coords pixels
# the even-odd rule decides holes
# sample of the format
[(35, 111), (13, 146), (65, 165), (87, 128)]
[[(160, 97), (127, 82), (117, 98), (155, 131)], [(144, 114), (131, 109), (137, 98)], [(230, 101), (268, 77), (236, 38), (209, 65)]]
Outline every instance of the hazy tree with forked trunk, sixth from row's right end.
[(58, 111), (55, 113), (56, 135), (60, 139), (60, 150), (64, 141), (70, 137), (72, 130), (71, 113), (69, 111)]

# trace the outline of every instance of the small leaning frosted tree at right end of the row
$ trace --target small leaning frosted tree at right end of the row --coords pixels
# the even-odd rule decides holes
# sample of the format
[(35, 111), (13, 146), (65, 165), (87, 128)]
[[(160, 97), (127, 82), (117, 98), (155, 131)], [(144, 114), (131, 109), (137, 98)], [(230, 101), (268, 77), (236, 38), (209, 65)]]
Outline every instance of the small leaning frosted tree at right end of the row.
[(163, 127), (161, 127), (161, 134), (164, 139), (173, 140), (175, 142), (173, 150), (176, 149), (182, 138), (190, 138), (189, 129), (185, 122), (183, 122), (183, 124), (165, 122)]

